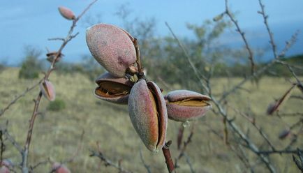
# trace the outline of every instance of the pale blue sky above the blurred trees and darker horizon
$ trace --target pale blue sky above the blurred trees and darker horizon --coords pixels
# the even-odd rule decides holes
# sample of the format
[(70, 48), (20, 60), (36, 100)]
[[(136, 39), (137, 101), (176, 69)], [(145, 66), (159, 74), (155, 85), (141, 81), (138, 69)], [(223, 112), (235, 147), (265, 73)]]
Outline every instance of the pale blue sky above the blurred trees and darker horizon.
[[(0, 62), (15, 65), (24, 58), (24, 46), (33, 45), (46, 52), (57, 50), (59, 43), (48, 41), (47, 38), (66, 36), (71, 22), (65, 20), (58, 13), (58, 6), (71, 8), (79, 14), (87, 6), (88, 0), (15, 0), (0, 1)], [(132, 15), (141, 19), (155, 17), (157, 22), (156, 34), (163, 36), (170, 34), (164, 22), (168, 22), (179, 37), (192, 36), (186, 29), (186, 22), (200, 24), (204, 20), (212, 19), (225, 9), (224, 0), (167, 0), (167, 1), (126, 1), (126, 0), (99, 0), (87, 15), (101, 14), (101, 21), (121, 25), (121, 20), (114, 15), (121, 4), (128, 4), (133, 10)], [(303, 29), (303, 1), (302, 0), (276, 0), (265, 1), (265, 10), (269, 14), (269, 24), (278, 43), (290, 38), (296, 29)], [(246, 32), (253, 45), (266, 46), (268, 36), (265, 32), (263, 20), (257, 14), (258, 0), (230, 0), (230, 8), (237, 13), (237, 20)], [(84, 54), (89, 54), (85, 43), (85, 28), (82, 22), (76, 31), (80, 35), (69, 43), (64, 50), (66, 61), (79, 61)], [(239, 36), (226, 35), (222, 38), (225, 44), (239, 42)], [(303, 52), (303, 37), (300, 34), (297, 44), (290, 50), (290, 54)]]

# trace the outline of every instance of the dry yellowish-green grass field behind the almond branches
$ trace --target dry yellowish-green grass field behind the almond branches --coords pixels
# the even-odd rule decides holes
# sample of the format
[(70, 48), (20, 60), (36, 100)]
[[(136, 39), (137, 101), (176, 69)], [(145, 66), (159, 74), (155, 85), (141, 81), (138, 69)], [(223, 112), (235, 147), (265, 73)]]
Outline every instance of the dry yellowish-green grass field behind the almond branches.
[[(38, 81), (18, 79), (18, 70), (18, 68), (7, 68), (0, 73), (0, 109), (24, 89)], [(231, 84), (239, 80), (238, 78), (214, 79), (212, 81), (214, 95), (220, 96), (224, 89), (228, 89)], [(148, 151), (135, 133), (128, 117), (127, 106), (113, 105), (95, 98), (93, 94), (95, 84), (80, 73), (73, 75), (54, 73), (50, 76), (50, 81), (56, 88), (56, 97), (64, 100), (66, 108), (57, 112), (49, 111), (47, 110), (49, 101), (43, 98), (40, 114), (34, 126), (29, 163), (34, 165), (47, 158), (57, 161), (74, 158), (73, 161), (66, 163), (72, 172), (118, 172), (113, 167), (105, 167), (98, 158), (89, 157), (89, 150), (96, 150), (96, 142), (98, 142), (103, 154), (114, 162), (121, 159), (121, 166), (126, 170), (146, 172), (140, 160), (141, 149), (145, 162), (151, 167), (151, 172), (167, 172), (163, 154)], [(162, 87), (161, 82), (159, 86)], [(281, 120), (277, 116), (268, 116), (265, 112), (267, 105), (274, 98), (281, 97), (289, 87), (290, 83), (283, 78), (263, 77), (258, 87), (248, 82), (244, 88), (249, 91), (238, 91), (230, 96), (228, 104), (255, 115), (256, 123), (269, 135), (269, 139), (276, 148), (283, 149), (290, 139), (279, 140), (278, 135), (281, 130), (295, 123), (298, 117), (283, 117)], [(33, 98), (36, 98), (38, 91), (37, 87), (34, 91), (27, 93), (0, 117), (1, 126), (8, 120), (10, 135), (22, 145), (26, 140), (28, 122), (34, 107)], [(299, 95), (300, 91), (295, 89), (293, 94)], [(231, 109), (228, 111), (232, 112)], [(302, 101), (293, 98), (290, 98), (281, 109), (281, 112), (299, 111), (302, 112)], [(258, 146), (265, 143), (249, 121), (239, 114), (231, 114), (244, 132), (249, 131), (249, 136)], [(173, 158), (179, 153), (176, 143), (179, 126), (180, 123), (169, 120), (167, 139), (172, 140)], [(195, 126), (194, 134), (192, 142), (186, 149), (186, 155), (195, 172), (246, 172), (246, 168), (235, 153), (230, 151), (223, 140), (210, 130), (212, 128), (222, 133), (221, 116), (209, 112), (202, 119), (191, 122), (189, 128), (185, 129), (185, 137), (189, 135), (192, 126)], [(84, 131), (84, 137), (81, 140), (82, 131)], [(230, 140), (233, 139), (232, 136), (230, 138)], [(13, 163), (20, 163), (20, 153), (10, 142), (6, 141), (5, 144), (6, 151), (3, 156), (13, 160)], [(303, 148), (302, 135), (298, 137), (295, 146)], [(256, 155), (248, 151), (247, 156), (251, 160), (251, 165), (255, 165), (256, 172), (267, 172), (265, 166), (258, 162)], [(291, 155), (274, 154), (270, 159), (279, 172), (298, 172)], [(179, 161), (179, 166), (177, 172), (190, 172), (185, 157)], [(36, 172), (50, 172), (50, 167), (50, 164), (41, 165)]]

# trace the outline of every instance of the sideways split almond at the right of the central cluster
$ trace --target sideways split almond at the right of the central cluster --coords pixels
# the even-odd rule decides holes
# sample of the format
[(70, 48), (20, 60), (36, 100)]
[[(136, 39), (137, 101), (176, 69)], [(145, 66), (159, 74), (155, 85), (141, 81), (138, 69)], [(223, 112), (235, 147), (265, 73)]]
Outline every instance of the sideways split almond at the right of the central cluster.
[(209, 96), (188, 90), (171, 91), (165, 96), (168, 118), (175, 121), (191, 121), (204, 116), (212, 105)]

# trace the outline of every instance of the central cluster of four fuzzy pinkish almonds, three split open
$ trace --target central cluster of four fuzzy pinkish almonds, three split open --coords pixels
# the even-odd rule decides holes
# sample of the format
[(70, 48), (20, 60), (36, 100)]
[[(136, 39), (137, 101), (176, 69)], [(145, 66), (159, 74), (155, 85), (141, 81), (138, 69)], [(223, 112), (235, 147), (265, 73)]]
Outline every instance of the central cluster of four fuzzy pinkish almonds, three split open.
[(111, 24), (87, 29), (86, 40), (93, 57), (108, 73), (96, 80), (95, 96), (117, 104), (127, 104), (133, 127), (150, 151), (165, 144), (168, 119), (191, 121), (209, 110), (209, 96), (188, 90), (163, 96), (155, 82), (146, 80), (137, 40)]

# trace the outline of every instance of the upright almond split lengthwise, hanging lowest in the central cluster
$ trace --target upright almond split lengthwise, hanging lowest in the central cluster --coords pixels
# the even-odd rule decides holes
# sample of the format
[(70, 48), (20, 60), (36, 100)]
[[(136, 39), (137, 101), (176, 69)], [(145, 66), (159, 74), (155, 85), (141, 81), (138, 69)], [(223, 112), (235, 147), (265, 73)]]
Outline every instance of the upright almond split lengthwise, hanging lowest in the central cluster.
[(139, 80), (128, 99), (133, 127), (150, 151), (157, 152), (165, 144), (168, 114), (165, 100), (154, 82)]

